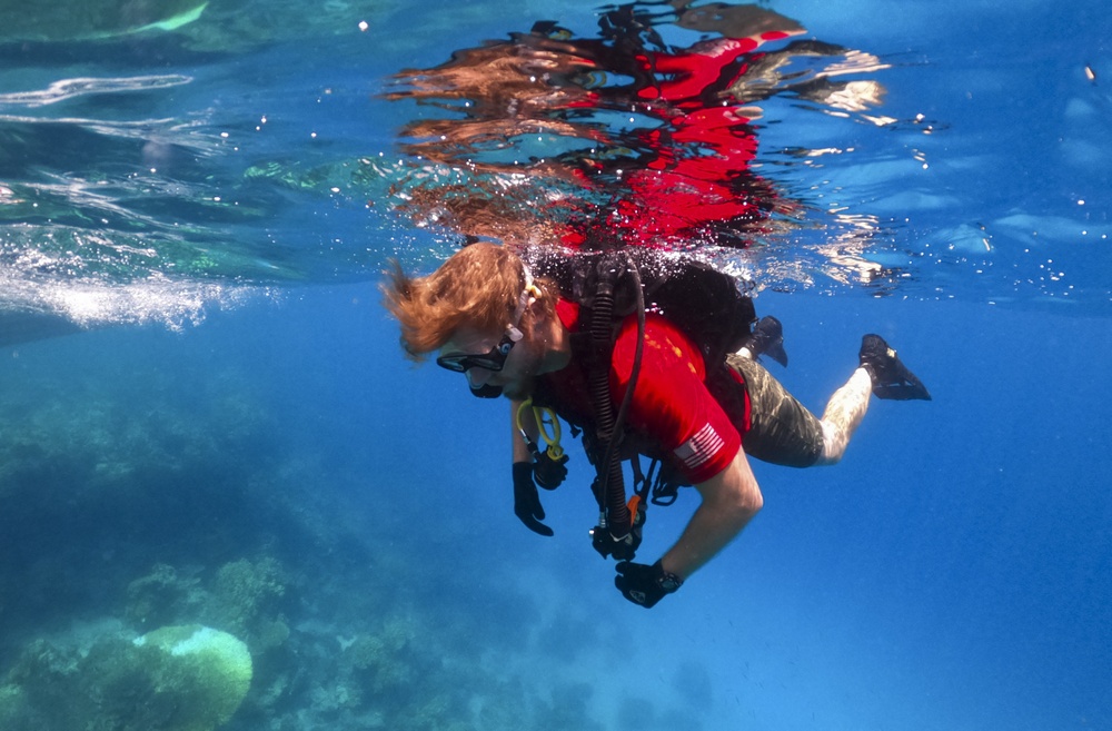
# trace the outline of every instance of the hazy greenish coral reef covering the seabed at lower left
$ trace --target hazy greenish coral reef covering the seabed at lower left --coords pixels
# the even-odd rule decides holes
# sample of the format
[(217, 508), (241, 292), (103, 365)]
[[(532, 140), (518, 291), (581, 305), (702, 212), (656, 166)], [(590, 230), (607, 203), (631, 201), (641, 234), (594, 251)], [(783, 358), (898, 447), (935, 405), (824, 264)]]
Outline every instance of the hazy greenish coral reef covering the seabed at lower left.
[[(590, 689), (515, 665), (533, 600), (429, 561), (404, 496), (368, 506), (388, 475), (294, 442), (247, 377), (135, 368), (0, 392), (0, 729), (597, 728)], [(187, 635), (237, 638), (208, 715)]]

